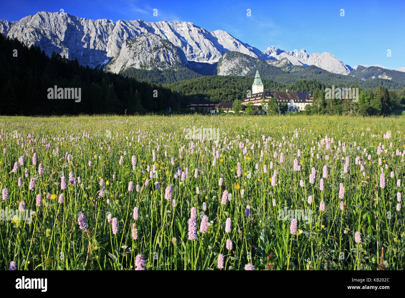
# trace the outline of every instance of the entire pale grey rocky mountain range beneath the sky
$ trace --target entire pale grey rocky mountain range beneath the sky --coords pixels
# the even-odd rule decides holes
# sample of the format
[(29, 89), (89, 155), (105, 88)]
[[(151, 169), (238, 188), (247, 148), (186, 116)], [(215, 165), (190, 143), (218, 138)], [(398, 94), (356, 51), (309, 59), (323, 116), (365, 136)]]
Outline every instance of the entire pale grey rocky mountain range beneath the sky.
[(68, 59), (76, 58), (82, 65), (114, 73), (128, 68), (162, 70), (185, 66), (195, 70), (217, 62), (218, 74), (245, 75), (251, 71), (249, 66), (241, 68), (238, 60), (220, 64), (228, 52), (239, 52), (277, 67), (312, 65), (343, 75), (354, 71), (327, 52), (308, 54), (305, 49), (284, 51), (274, 46), (260, 51), (223, 30), (210, 32), (190, 22), (113, 22), (42, 11), (19, 21), (1, 20), (0, 32), (28, 46), (39, 45), (49, 56), (56, 52)]

